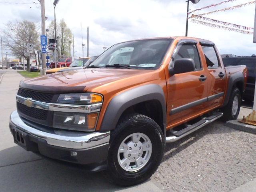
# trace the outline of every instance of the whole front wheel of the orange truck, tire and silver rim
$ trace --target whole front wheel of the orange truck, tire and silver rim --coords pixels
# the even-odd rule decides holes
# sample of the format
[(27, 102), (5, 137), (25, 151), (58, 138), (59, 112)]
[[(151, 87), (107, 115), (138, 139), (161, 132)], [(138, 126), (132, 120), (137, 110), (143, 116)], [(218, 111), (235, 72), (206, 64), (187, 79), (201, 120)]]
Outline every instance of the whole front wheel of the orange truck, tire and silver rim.
[(158, 168), (164, 150), (164, 135), (154, 120), (132, 114), (111, 133), (108, 179), (120, 186), (144, 182)]

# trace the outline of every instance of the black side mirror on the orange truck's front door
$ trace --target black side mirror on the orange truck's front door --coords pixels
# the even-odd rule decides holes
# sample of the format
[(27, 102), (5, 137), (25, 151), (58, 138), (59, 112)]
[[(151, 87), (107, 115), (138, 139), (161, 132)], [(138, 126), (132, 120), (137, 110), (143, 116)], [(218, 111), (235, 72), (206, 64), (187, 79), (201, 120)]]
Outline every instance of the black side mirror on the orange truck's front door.
[(186, 73), (195, 70), (195, 62), (191, 58), (176, 59), (173, 68), (169, 69), (171, 75)]

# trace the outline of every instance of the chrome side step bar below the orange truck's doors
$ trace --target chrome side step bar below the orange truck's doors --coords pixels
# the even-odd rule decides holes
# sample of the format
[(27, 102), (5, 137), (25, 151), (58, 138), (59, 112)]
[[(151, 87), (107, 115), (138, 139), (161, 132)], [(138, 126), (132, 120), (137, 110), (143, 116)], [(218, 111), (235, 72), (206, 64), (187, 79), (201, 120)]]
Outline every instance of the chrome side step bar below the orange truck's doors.
[(192, 129), (188, 132), (185, 132), (184, 134), (182, 134), (180, 136), (174, 136), (174, 135), (166, 136), (166, 143), (175, 142), (175, 141), (187, 136), (188, 134), (202, 128), (203, 126), (215, 121), (216, 119), (220, 118), (222, 115), (223, 115), (223, 113), (219, 113), (218, 115), (213, 115), (214, 118), (211, 118), (211, 116), (207, 117), (207, 118), (203, 118), (205, 120), (205, 122), (203, 124), (200, 124), (199, 126), (196, 126), (194, 129)]

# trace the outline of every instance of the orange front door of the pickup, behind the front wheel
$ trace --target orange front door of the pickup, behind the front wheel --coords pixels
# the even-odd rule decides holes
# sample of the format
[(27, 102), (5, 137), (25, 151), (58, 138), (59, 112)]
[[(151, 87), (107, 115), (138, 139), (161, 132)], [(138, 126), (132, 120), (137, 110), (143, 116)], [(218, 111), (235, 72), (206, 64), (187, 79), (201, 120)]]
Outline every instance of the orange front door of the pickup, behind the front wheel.
[(170, 66), (173, 67), (175, 60), (179, 58), (192, 58), (195, 70), (175, 75), (168, 73), (167, 129), (182, 124), (203, 111), (207, 102), (208, 73), (200, 60), (198, 42), (180, 40), (174, 50)]

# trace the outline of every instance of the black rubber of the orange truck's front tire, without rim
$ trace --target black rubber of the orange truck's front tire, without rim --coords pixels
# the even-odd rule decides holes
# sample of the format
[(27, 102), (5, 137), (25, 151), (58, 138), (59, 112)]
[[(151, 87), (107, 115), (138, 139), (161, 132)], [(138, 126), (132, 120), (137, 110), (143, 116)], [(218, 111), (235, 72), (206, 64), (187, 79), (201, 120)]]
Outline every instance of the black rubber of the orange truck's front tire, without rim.
[[(152, 143), (152, 153), (144, 167), (138, 171), (129, 172), (118, 163), (118, 148), (127, 136), (137, 132), (148, 136)], [(132, 186), (144, 182), (158, 168), (163, 156), (164, 142), (162, 130), (151, 118), (141, 114), (131, 114), (122, 118), (110, 136), (107, 179), (119, 186)]]

